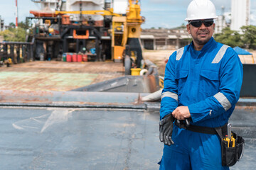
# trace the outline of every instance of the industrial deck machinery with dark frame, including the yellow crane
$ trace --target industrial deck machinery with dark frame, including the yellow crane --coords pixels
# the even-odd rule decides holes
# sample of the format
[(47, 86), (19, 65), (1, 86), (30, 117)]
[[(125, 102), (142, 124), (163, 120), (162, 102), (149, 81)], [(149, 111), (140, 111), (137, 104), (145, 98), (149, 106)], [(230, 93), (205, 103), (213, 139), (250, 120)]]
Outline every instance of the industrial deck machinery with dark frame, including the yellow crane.
[(35, 38), (36, 60), (80, 53), (88, 61), (124, 62), (126, 74), (142, 67), (139, 36), (144, 17), (138, 0), (33, 1), (42, 8), (27, 17), (36, 21), (28, 36), (28, 41)]

